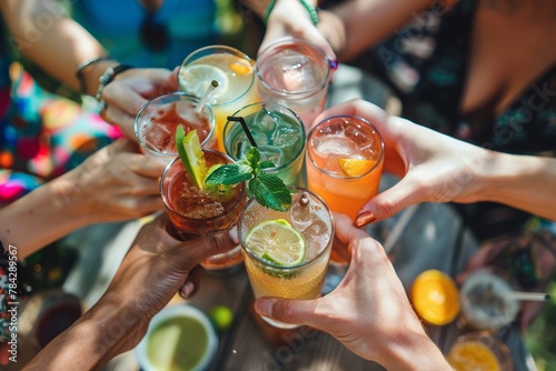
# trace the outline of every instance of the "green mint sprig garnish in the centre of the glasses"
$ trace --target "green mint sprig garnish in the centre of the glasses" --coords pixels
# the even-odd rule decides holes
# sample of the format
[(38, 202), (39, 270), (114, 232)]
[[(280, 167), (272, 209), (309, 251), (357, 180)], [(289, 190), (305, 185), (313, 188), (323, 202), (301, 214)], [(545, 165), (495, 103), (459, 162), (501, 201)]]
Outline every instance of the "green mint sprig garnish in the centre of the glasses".
[(288, 211), (291, 207), (288, 188), (280, 178), (264, 171), (274, 167), (271, 161), (260, 162), (259, 150), (251, 147), (247, 159), (219, 167), (205, 179), (205, 184), (229, 186), (247, 181), (249, 192), (257, 202), (277, 211)]

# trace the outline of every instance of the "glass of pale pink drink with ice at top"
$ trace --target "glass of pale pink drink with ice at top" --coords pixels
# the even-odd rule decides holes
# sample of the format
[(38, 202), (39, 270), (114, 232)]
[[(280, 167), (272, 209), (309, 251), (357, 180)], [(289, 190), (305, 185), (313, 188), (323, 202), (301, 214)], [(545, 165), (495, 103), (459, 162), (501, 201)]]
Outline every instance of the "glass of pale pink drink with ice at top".
[(306, 40), (279, 40), (262, 50), (256, 69), (260, 98), (299, 114), (309, 131), (328, 97), (330, 61), (325, 52)]

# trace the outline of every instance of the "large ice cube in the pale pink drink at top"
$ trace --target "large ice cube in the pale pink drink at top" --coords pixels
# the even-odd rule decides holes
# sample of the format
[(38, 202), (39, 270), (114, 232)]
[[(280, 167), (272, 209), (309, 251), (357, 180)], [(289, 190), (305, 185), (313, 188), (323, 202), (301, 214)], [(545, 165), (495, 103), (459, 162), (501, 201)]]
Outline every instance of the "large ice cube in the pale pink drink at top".
[(317, 86), (315, 71), (308, 57), (301, 54), (286, 56), (280, 59), (279, 64), (286, 91), (304, 91)]

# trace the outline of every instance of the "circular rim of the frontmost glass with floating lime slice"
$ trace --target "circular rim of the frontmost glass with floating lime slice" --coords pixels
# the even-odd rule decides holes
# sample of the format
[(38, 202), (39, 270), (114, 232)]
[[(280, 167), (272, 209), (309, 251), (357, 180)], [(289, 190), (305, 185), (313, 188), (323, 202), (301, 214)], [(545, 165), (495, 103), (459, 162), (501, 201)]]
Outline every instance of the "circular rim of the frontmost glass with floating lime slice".
[[(315, 261), (317, 261), (325, 252), (326, 250), (328, 249), (328, 244), (331, 244), (334, 243), (334, 237), (336, 234), (336, 222), (334, 220), (334, 214), (330, 210), (330, 208), (328, 207), (328, 204), (325, 202), (325, 200), (322, 200), (322, 198), (320, 195), (318, 195), (317, 193), (310, 191), (309, 189), (307, 188), (304, 188), (304, 187), (299, 187), (299, 186), (287, 186), (288, 187), (288, 190), (290, 191), (295, 191), (294, 193), (300, 193), (300, 192), (307, 192), (309, 193), (309, 195), (317, 200), (317, 202), (319, 202), (324, 208), (325, 208), (325, 211), (326, 211), (326, 214), (328, 215), (329, 220), (330, 220), (330, 235), (328, 238), (328, 242), (326, 244), (326, 248), (322, 249), (321, 251), (319, 251), (318, 254), (315, 255), (315, 258), (312, 258), (311, 260), (309, 261), (305, 261), (300, 264), (297, 264), (297, 265), (292, 265), (292, 267), (284, 267), (284, 265), (278, 265), (276, 263), (272, 263), (270, 261), (267, 261), (267, 260), (264, 260), (259, 257), (257, 257), (256, 254), (254, 254), (251, 251), (249, 251), (245, 244), (244, 244), (244, 233), (242, 233), (242, 229), (241, 229), (241, 224), (242, 224), (242, 221), (244, 221), (244, 218), (245, 218), (245, 214), (247, 212), (247, 210), (249, 208), (251, 208), (251, 204), (252, 203), (257, 203), (259, 207), (264, 208), (264, 205), (261, 205), (255, 198), (251, 198), (247, 201), (247, 203), (245, 204), (244, 207), (244, 210), (241, 210), (241, 213), (239, 214), (239, 218), (238, 218), (238, 224), (237, 224), (237, 228), (238, 228), (238, 239), (239, 239), (239, 244), (241, 245), (241, 249), (247, 253), (249, 254), (249, 257), (251, 257), (252, 259), (255, 259), (257, 262), (259, 263), (262, 263), (267, 267), (270, 267), (270, 268), (275, 268), (275, 269), (279, 269), (281, 271), (295, 271), (295, 270), (298, 270), (300, 268), (304, 268), (304, 267), (307, 267), (311, 263), (314, 263)], [(291, 210), (291, 209), (290, 209)], [(289, 210), (288, 211), (284, 211), (284, 212), (290, 212)], [(255, 227), (255, 225), (254, 225)], [(298, 231), (299, 232), (299, 231)], [(300, 232), (299, 232), (300, 233)], [(305, 241), (304, 241), (305, 242)], [(330, 249), (331, 249), (331, 245), (330, 245)]]

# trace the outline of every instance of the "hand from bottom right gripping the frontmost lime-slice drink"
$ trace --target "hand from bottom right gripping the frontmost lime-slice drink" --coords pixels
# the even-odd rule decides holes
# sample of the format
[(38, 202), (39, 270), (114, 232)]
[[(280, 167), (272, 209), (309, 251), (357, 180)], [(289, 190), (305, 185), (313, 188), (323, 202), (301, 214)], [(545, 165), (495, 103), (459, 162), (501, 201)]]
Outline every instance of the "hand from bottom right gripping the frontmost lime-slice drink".
[(256, 311), (280, 322), (322, 330), (354, 353), (387, 369), (400, 370), (405, 364), (395, 360), (394, 347), (400, 348), (400, 358), (407, 355), (405, 352), (427, 354), (427, 363), (414, 364), (431, 364), (435, 357), (443, 362), (383, 247), (355, 228), (348, 217), (335, 214), (335, 220), (336, 237), (351, 252), (350, 265), (339, 285), (315, 300), (260, 298), (255, 303)]

